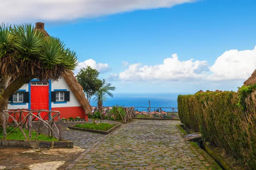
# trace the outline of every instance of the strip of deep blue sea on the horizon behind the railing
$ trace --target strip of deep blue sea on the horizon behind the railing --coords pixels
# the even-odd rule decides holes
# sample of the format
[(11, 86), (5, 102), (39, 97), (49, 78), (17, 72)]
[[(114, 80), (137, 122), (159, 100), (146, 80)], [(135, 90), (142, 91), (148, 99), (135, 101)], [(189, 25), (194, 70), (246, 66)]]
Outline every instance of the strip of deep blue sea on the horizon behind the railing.
[[(177, 108), (177, 97), (187, 93), (116, 93), (113, 98), (108, 97), (103, 106), (124, 107), (174, 107)], [(96, 103), (90, 102), (91, 106)]]

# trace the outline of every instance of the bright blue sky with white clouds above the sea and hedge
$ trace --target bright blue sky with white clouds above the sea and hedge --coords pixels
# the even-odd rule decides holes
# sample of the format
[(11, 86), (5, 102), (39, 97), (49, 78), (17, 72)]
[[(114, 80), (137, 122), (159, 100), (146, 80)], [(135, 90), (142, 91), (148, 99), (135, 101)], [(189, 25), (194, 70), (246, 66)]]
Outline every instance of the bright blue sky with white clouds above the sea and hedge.
[(118, 93), (236, 90), (256, 69), (254, 0), (108, 1), (78, 8), (74, 0), (72, 9), (63, 5), (69, 13), (47, 2), (56, 6), (49, 15), (43, 14), (49, 8), (34, 4), (41, 16), (23, 11), (4, 21), (44, 22), (77, 52), (80, 67), (99, 69)]

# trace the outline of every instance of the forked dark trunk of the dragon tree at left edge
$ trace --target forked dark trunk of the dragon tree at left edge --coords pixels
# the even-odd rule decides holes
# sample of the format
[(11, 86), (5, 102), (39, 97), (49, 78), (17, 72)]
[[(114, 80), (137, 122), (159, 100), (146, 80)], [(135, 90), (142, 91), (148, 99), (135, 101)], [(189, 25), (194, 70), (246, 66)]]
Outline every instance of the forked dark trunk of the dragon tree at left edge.
[[(0, 82), (0, 126), (3, 124), (3, 110), (8, 109), (8, 99), (9, 97), (15, 93), (18, 89), (20, 89), (24, 84), (29, 83), (29, 81), (33, 78), (32, 75), (20, 76), (15, 79), (11, 83), (9, 83), (9, 77), (1, 76)], [(6, 120), (8, 120), (8, 116), (6, 116)]]

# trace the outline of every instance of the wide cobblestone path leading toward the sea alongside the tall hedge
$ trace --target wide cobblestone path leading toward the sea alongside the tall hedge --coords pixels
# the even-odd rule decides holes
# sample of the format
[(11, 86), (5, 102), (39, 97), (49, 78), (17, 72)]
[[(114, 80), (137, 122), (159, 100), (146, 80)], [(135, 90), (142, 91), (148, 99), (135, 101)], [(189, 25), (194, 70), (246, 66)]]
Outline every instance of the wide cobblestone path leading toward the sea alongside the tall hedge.
[(219, 170), (197, 146), (185, 141), (179, 121), (135, 120), (102, 138), (67, 169)]

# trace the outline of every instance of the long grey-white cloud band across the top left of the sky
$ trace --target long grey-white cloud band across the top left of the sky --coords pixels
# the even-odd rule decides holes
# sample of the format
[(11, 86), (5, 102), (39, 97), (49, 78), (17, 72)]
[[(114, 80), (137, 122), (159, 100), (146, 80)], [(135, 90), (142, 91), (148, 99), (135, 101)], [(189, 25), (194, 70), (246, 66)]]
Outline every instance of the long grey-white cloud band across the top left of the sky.
[(3, 22), (73, 20), (140, 9), (169, 8), (197, 0), (0, 0)]

